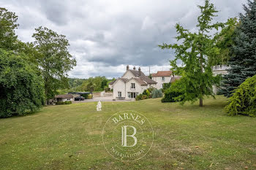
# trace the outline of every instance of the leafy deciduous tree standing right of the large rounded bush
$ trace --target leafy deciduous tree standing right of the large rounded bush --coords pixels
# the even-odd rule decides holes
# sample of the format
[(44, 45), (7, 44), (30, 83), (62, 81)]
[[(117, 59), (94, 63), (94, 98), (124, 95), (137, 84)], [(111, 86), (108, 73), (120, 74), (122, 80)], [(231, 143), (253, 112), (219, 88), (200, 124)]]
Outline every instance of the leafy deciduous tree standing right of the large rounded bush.
[(58, 93), (57, 89), (67, 88), (67, 72), (76, 65), (76, 61), (69, 54), (66, 36), (41, 26), (35, 30), (32, 37), (36, 39), (34, 47), (38, 52), (37, 62), (45, 82), (47, 103)]

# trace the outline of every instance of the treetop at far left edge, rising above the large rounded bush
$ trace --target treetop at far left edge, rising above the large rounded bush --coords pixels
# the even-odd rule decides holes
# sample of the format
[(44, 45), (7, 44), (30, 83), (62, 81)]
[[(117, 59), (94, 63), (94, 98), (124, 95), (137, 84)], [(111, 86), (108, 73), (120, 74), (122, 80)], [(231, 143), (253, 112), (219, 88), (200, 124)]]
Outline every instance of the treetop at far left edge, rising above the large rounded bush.
[(18, 36), (15, 29), (18, 28), (18, 16), (0, 7), (0, 48), (15, 50)]

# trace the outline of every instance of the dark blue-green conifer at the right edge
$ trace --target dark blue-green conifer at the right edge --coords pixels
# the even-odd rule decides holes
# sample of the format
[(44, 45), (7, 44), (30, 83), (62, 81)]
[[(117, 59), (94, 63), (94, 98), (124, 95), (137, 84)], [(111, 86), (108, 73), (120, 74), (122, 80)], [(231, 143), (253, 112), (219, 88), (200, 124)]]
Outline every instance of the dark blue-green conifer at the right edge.
[(240, 14), (240, 25), (236, 28), (233, 53), (230, 58), (230, 69), (225, 75), (222, 93), (232, 96), (233, 90), (241, 85), (248, 77), (256, 74), (256, 1), (248, 1), (244, 5), (245, 14)]

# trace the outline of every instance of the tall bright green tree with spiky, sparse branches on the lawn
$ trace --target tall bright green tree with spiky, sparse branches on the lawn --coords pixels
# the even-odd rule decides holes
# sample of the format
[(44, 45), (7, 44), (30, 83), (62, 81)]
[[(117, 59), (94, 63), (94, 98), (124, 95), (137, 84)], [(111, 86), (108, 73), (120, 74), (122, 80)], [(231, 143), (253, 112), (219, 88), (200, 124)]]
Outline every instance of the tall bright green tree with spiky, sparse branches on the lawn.
[[(182, 40), (181, 45), (159, 45), (162, 49), (176, 50), (176, 58), (170, 61), (173, 66), (174, 74), (181, 75), (184, 79), (185, 101), (200, 100), (200, 107), (203, 107), (204, 96), (214, 96), (212, 85), (219, 83), (219, 76), (214, 77), (211, 71), (211, 63), (208, 58), (219, 55), (219, 49), (216, 47), (216, 37), (210, 34), (214, 28), (218, 30), (222, 23), (212, 23), (212, 20), (217, 13), (214, 4), (205, 1), (204, 6), (198, 6), (201, 15), (197, 18), (197, 29), (195, 33), (184, 29), (179, 24), (176, 24), (178, 36), (177, 41)], [(177, 61), (182, 62), (182, 66), (178, 66)]]

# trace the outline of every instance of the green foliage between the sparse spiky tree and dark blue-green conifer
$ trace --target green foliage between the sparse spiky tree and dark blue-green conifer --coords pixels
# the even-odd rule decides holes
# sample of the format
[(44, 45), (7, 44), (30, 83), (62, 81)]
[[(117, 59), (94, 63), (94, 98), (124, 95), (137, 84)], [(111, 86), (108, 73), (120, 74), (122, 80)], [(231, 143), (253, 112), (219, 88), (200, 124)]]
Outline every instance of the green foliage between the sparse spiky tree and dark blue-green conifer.
[(232, 55), (230, 49), (234, 44), (233, 39), (236, 37), (235, 29), (238, 26), (237, 18), (230, 18), (225, 23), (225, 27), (222, 28), (222, 31), (217, 34), (216, 46), (219, 48), (219, 55), (210, 56), (209, 63), (212, 66), (216, 65), (226, 65), (230, 61)]

